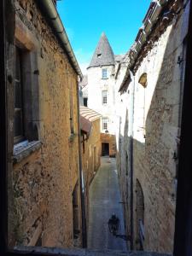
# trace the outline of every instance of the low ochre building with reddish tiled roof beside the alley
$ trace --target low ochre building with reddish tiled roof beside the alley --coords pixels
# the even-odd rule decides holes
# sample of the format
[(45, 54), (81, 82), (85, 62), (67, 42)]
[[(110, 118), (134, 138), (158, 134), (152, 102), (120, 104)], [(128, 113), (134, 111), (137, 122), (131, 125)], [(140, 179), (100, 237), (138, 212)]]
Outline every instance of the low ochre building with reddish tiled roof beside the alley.
[(84, 173), (84, 196), (86, 208), (86, 224), (89, 221), (89, 188), (96, 175), (101, 160), (100, 137), (101, 114), (90, 108), (80, 106), (81, 155)]

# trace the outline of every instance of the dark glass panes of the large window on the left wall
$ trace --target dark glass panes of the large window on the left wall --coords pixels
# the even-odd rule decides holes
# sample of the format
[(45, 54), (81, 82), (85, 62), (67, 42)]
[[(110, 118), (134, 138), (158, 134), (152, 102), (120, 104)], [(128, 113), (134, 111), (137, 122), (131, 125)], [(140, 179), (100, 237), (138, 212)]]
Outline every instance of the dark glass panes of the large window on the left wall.
[(14, 143), (24, 139), (23, 88), (21, 74), (21, 50), (15, 48), (15, 91), (14, 91)]

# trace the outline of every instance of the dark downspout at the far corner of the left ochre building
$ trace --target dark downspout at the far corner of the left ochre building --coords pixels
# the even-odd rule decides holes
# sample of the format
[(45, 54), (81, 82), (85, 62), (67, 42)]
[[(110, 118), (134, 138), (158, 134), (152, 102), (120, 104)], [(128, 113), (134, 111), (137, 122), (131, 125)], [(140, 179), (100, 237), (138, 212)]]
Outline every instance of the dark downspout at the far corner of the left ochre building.
[(77, 83), (78, 91), (78, 117), (79, 117), (79, 180), (80, 180), (80, 198), (81, 198), (81, 216), (82, 216), (82, 246), (87, 247), (87, 230), (86, 230), (86, 213), (84, 204), (84, 180), (83, 180), (83, 170), (82, 170), (82, 153), (81, 153), (81, 131), (80, 131), (80, 111), (79, 111), (79, 84)]

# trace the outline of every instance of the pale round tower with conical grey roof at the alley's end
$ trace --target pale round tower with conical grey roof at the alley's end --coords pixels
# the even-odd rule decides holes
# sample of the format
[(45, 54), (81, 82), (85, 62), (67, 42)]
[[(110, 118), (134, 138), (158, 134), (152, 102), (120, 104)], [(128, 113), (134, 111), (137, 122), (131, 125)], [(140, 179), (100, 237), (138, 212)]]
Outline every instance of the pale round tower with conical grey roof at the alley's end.
[(88, 107), (102, 114), (102, 155), (114, 156), (115, 143), (115, 66), (119, 55), (113, 54), (104, 33), (96, 46), (95, 53), (87, 67)]

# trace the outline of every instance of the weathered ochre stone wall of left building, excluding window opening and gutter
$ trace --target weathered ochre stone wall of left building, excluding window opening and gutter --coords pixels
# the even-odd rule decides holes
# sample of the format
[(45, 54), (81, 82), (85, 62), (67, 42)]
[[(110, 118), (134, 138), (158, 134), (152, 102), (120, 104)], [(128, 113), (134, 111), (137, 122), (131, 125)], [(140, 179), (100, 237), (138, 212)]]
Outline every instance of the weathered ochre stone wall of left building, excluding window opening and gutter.
[[(73, 247), (75, 188), (81, 230), (78, 74), (37, 1), (14, 3), (15, 45), (26, 58), (24, 80), (31, 83), (24, 99), (24, 112), (30, 116), (26, 123), (34, 127), (33, 140), (41, 146), (31, 151), (21, 147), (19, 158), (14, 150), (15, 164), (9, 168), (9, 244)], [(13, 90), (10, 84), (9, 102)], [(13, 110), (9, 119), (13, 127)], [(27, 139), (30, 145), (26, 135)], [(10, 140), (11, 154), (13, 130)], [(81, 244), (81, 232), (79, 238)]]

